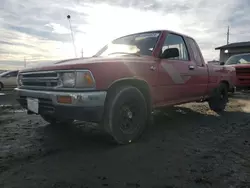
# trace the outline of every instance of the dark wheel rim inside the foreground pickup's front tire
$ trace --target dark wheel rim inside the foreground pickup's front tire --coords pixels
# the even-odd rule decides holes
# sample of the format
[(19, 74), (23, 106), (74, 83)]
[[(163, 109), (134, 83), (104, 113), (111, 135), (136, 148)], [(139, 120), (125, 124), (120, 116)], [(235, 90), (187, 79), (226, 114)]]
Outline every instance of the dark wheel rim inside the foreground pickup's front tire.
[(136, 103), (126, 103), (120, 108), (120, 130), (125, 134), (134, 133), (139, 125), (138, 125), (138, 107), (135, 105)]

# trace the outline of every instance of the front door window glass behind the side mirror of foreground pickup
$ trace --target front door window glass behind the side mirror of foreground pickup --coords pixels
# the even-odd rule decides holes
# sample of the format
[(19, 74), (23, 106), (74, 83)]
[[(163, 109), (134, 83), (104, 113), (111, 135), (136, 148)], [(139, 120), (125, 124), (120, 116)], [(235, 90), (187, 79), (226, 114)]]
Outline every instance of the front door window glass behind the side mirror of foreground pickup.
[(177, 48), (179, 50), (179, 57), (174, 57), (169, 59), (185, 60), (185, 61), (189, 60), (187, 47), (181, 36), (175, 34), (168, 34), (162, 46), (162, 53), (164, 52), (164, 50), (168, 48)]

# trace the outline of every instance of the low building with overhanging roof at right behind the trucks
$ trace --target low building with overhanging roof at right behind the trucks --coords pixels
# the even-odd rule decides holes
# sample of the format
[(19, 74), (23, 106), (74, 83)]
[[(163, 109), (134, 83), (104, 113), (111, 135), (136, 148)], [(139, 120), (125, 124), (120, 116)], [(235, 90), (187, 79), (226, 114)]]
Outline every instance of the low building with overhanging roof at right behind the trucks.
[(250, 41), (227, 44), (217, 47), (215, 50), (220, 50), (220, 62), (226, 62), (232, 55), (250, 53)]

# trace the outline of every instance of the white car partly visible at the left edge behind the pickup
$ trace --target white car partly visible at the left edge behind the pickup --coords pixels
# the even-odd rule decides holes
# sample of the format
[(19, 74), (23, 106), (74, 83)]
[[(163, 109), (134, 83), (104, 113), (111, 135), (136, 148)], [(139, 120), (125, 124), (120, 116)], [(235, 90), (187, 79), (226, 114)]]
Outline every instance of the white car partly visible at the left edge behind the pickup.
[(17, 74), (19, 71), (6, 71), (0, 74), (0, 91), (17, 87)]

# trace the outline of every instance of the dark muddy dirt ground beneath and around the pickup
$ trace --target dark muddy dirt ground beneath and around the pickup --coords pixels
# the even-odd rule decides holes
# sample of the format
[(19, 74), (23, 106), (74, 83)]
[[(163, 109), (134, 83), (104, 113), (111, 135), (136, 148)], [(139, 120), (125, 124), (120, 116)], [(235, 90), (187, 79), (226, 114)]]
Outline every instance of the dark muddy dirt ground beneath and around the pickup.
[(0, 96), (14, 105), (0, 108), (0, 187), (250, 187), (248, 95), (221, 115), (198, 103), (158, 112), (127, 146), (94, 125), (48, 125)]

